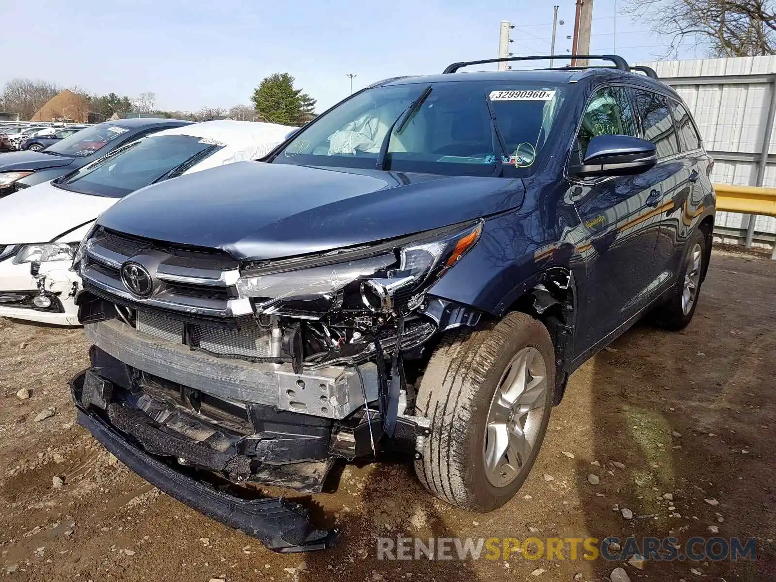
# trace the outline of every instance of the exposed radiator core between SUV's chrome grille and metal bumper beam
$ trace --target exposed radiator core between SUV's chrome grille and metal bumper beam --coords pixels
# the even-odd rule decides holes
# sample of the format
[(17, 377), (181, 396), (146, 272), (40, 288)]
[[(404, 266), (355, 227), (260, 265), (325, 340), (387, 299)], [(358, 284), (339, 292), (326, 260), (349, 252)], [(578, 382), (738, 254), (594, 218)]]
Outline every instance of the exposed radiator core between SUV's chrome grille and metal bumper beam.
[[(176, 344), (183, 342), (183, 323), (172, 317), (137, 313), (137, 331)], [(194, 324), (193, 340), (200, 348), (218, 354), (239, 354), (262, 358), (269, 352), (269, 334), (252, 317), (237, 317), (231, 325), (200, 320)]]

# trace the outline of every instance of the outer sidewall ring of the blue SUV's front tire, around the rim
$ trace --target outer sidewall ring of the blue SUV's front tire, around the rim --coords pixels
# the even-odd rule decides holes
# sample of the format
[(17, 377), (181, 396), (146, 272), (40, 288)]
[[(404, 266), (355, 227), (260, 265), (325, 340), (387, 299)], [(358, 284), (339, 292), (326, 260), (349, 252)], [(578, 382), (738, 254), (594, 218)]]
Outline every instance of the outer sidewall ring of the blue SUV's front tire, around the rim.
[[(484, 443), (490, 402), (497, 390), (501, 376), (503, 376), (504, 370), (509, 362), (511, 362), (511, 359), (521, 349), (528, 347), (539, 350), (546, 366), (547, 390), (542, 422), (539, 427), (539, 433), (536, 435), (536, 442), (532, 449), (531, 456), (528, 457), (527, 469), (521, 469), (518, 478), (507, 486), (495, 487), (487, 479), (484, 466)], [(485, 382), (480, 386), (479, 393), (476, 396), (476, 411), (474, 411), (472, 415), (472, 431), (467, 442), (469, 459), (473, 461), (469, 464), (468, 481), (471, 484), (476, 504), (480, 506), (483, 511), (491, 511), (507, 503), (514, 497), (514, 494), (518, 492), (525, 482), (525, 479), (528, 477), (528, 474), (531, 472), (536, 456), (539, 455), (539, 449), (541, 448), (547, 430), (547, 424), (549, 424), (554, 388), (555, 355), (553, 352), (553, 344), (542, 323), (537, 320), (532, 320), (530, 324), (515, 331), (508, 342), (501, 348), (497, 359), (490, 366)]]

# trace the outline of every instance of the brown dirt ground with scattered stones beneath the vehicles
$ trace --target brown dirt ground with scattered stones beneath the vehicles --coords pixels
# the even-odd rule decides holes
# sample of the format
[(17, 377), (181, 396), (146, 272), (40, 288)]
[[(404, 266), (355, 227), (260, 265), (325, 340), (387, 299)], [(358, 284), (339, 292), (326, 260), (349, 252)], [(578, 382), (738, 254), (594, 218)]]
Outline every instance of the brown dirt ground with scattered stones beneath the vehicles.
[[(80, 329), (0, 319), (0, 577), (609, 580), (621, 566), (631, 580), (776, 580), (774, 284), (767, 256), (715, 251), (686, 330), (639, 324), (574, 373), (532, 474), (501, 510), (473, 514), (436, 501), (409, 465), (348, 466), (331, 492), (304, 498), (320, 522), (342, 529), (338, 547), (295, 555), (271, 553), (159, 493), (74, 425), (66, 382), (87, 365)], [(20, 398), (23, 389), (32, 396)], [(55, 414), (36, 421), (48, 407)], [(55, 476), (64, 485), (54, 487)], [(581, 555), (389, 562), (376, 553), (379, 535), (684, 542), (711, 537), (709, 526), (727, 539), (756, 538), (756, 560), (638, 570)]]

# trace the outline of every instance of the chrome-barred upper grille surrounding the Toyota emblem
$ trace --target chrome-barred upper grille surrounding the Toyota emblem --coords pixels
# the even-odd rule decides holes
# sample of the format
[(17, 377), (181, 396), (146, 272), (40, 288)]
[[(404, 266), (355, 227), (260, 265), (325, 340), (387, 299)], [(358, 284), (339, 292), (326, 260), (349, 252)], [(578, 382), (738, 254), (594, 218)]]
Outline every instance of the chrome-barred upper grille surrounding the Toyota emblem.
[[(99, 229), (86, 243), (81, 261), (85, 285), (134, 303), (185, 314), (237, 317), (251, 314), (235, 285), (239, 263), (223, 251), (184, 248)], [(121, 280), (126, 261), (143, 265), (156, 284), (147, 298), (133, 295)]]

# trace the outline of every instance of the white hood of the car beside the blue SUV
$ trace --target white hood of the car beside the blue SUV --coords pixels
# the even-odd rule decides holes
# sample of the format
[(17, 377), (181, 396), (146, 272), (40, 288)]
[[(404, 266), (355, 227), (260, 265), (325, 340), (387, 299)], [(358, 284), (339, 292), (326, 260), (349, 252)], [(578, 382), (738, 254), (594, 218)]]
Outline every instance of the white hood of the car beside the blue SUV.
[[(69, 192), (50, 182), (13, 192), (0, 199), (0, 244), (57, 241), (62, 234), (95, 220), (116, 201)], [(60, 242), (78, 242), (83, 235), (78, 229)]]

